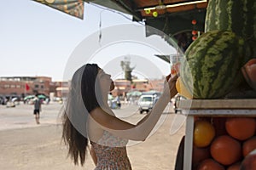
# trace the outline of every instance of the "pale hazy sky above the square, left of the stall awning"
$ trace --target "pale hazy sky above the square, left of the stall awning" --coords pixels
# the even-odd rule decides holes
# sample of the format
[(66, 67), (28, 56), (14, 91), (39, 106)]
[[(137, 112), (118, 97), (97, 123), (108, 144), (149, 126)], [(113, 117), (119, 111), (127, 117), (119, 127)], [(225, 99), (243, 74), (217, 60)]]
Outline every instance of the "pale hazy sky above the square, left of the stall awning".
[[(111, 35), (115, 37), (115, 32), (111, 29), (111, 33), (105, 33), (105, 28), (132, 23), (141, 27), (143, 25), (127, 19), (127, 17), (131, 19), (131, 16), (126, 15), (125, 17), (122, 14), (104, 10), (88, 3), (84, 3), (84, 5), (84, 20), (79, 20), (54, 8), (49, 8), (41, 3), (30, 0), (8, 0), (1, 2), (0, 77), (47, 76), (52, 77), (53, 81), (62, 80), (65, 68), (68, 67), (68, 62), (78, 61), (79, 59), (77, 58), (81, 57), (74, 56), (77, 55), (76, 51), (84, 49), (84, 53), (88, 54), (89, 49), (94, 49), (90, 47), (91, 44), (96, 44), (98, 47), (95, 48), (96, 54), (92, 54), (94, 59), (90, 60), (99, 62), (99, 65), (106, 67), (109, 71), (111, 71), (111, 68), (113, 69), (113, 66), (109, 66), (108, 63), (110, 61), (111, 63), (115, 62), (115, 67), (119, 68), (118, 71), (113, 69), (113, 71), (116, 71), (112, 73), (115, 74), (115, 77), (121, 71), (119, 61), (127, 56), (131, 59), (131, 66), (136, 66), (138, 69), (138, 74), (145, 75), (143, 69), (140, 70), (139, 68), (146, 68), (147, 65), (152, 63), (160, 68), (161, 73), (166, 74), (166, 71), (169, 71), (169, 65), (166, 62), (160, 59), (160, 61), (154, 61), (154, 54), (160, 54), (158, 52), (162, 52), (161, 49), (160, 51), (157, 49), (151, 51), (152, 48), (149, 49), (147, 44), (142, 45), (141, 43), (134, 47), (134, 44), (141, 42), (140, 40), (137, 42), (136, 38), (136, 43), (131, 38), (131, 42), (119, 43), (118, 40), (113, 40), (114, 45), (108, 44), (113, 43), (112, 40), (109, 40), (109, 37)], [(99, 27), (100, 19), (102, 20), (101, 30)], [(98, 39), (99, 31), (102, 31), (102, 42)], [(121, 30), (122, 35), (129, 35), (126, 32), (128, 31)], [(105, 36), (106, 34), (108, 36)], [(108, 37), (108, 41), (104, 42), (106, 37)], [(96, 39), (88, 41), (90, 38)], [(130, 51), (124, 49), (129, 49)], [(109, 52), (110, 50), (111, 52)], [(143, 51), (144, 54), (141, 54), (140, 51)], [(167, 51), (163, 53), (172, 52)], [(112, 55), (111, 59), (107, 57), (110, 54)], [(151, 56), (148, 56), (148, 54), (151, 54)], [(102, 59), (104, 55), (105, 58)], [(143, 57), (154, 59), (147, 59), (143, 63)], [(88, 59), (84, 59), (84, 61), (88, 61)], [(150, 62), (152, 63), (150, 64)], [(145, 65), (146, 63), (148, 64)], [(83, 63), (80, 62), (79, 65), (83, 65)], [(77, 67), (77, 65), (75, 64), (73, 67)], [(147, 77), (153, 76), (154, 72)]]

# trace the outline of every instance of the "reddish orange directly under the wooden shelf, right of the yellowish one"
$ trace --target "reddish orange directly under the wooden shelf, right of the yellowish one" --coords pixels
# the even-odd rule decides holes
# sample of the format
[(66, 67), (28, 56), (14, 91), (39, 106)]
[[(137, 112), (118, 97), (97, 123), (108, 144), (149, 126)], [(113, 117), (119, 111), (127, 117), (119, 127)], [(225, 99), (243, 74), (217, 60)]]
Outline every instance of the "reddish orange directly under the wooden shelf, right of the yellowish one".
[(229, 117), (225, 123), (227, 132), (235, 139), (249, 139), (255, 133), (256, 122), (253, 117)]

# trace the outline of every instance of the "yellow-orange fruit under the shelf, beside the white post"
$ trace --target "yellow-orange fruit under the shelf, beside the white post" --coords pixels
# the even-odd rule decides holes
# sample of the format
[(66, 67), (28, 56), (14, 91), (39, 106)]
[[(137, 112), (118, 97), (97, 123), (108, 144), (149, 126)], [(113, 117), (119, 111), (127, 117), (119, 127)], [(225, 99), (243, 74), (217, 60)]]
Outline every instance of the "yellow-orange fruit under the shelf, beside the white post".
[(215, 136), (215, 129), (210, 122), (198, 120), (194, 128), (194, 144), (197, 147), (206, 147), (211, 144)]

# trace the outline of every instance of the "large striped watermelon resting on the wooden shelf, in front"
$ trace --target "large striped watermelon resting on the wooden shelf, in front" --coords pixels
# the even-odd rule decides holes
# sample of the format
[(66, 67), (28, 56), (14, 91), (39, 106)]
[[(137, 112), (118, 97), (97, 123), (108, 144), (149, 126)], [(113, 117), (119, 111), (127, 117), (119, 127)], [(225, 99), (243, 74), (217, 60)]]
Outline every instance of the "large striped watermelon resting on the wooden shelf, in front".
[(241, 66), (250, 50), (231, 31), (208, 31), (189, 45), (181, 65), (184, 86), (195, 99), (219, 99), (242, 80)]

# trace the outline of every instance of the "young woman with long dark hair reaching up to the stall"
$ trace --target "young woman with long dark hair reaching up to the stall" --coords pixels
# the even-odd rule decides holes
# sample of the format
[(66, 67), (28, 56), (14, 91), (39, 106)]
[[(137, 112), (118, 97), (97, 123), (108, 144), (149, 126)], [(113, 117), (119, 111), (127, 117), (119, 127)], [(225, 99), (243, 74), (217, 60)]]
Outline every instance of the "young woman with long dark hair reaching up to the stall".
[(62, 139), (74, 164), (80, 162), (83, 166), (89, 149), (95, 170), (131, 170), (125, 145), (129, 139), (144, 141), (148, 137), (177, 94), (176, 80), (177, 77), (166, 77), (163, 94), (152, 111), (137, 124), (131, 124), (114, 116), (108, 106), (108, 93), (114, 88), (110, 75), (96, 64), (79, 68), (73, 75), (63, 111)]

